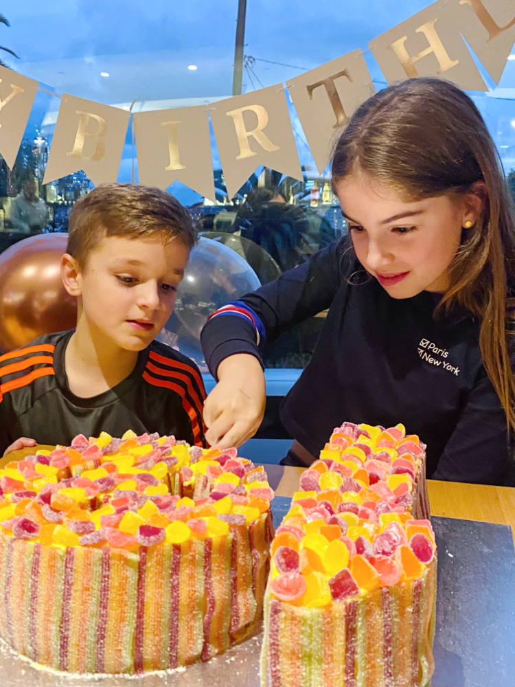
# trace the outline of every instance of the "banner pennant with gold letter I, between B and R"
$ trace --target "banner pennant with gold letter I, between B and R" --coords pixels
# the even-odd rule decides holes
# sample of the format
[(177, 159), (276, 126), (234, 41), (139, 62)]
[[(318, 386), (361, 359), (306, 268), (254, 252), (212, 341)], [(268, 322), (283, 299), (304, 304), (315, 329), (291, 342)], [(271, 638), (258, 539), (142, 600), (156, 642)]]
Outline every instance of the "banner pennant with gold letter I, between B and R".
[(207, 107), (133, 114), (139, 183), (168, 188), (174, 181), (215, 201)]

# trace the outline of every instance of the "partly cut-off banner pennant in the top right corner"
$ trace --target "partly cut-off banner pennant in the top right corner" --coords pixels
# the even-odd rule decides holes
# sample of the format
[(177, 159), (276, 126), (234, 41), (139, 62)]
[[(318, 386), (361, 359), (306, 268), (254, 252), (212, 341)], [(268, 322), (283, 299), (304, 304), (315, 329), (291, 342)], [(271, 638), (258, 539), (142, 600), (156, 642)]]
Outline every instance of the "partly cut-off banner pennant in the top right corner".
[(496, 84), (515, 42), (514, 0), (453, 0), (442, 8)]

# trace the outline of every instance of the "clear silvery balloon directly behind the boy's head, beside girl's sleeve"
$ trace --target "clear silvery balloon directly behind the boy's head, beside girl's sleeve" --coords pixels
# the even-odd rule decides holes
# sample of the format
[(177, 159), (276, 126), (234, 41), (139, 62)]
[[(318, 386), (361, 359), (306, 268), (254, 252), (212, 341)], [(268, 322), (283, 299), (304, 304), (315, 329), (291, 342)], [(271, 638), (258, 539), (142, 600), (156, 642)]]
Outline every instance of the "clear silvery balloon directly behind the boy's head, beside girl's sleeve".
[(192, 249), (172, 317), (158, 340), (192, 358), (207, 372), (201, 330), (211, 313), (260, 286), (255, 271), (227, 246), (201, 237)]

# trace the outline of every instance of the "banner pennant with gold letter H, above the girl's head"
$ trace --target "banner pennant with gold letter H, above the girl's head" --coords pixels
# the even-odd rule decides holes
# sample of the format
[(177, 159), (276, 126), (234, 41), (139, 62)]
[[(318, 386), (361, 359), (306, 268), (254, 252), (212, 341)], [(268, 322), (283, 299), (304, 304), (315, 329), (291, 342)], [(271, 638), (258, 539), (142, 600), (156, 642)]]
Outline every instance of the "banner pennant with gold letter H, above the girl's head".
[(465, 90), (488, 91), (459, 26), (446, 21), (444, 8), (445, 3), (437, 0), (370, 41), (382, 73), (389, 84), (415, 76), (438, 76)]

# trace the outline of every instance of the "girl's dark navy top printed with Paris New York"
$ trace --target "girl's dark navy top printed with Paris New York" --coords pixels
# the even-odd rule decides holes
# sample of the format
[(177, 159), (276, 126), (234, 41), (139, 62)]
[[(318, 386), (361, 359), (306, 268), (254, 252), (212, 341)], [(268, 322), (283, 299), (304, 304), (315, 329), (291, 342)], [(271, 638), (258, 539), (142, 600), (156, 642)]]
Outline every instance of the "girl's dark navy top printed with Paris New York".
[(317, 455), (344, 420), (403, 423), (427, 444), (427, 475), (503, 484), (509, 450), (505, 414), (479, 350), (480, 322), (439, 296), (390, 297), (346, 241), (333, 243), (209, 319), (205, 359), (216, 376), (225, 357), (260, 359), (273, 340), (329, 308), (307, 368), (284, 399), (291, 436)]

